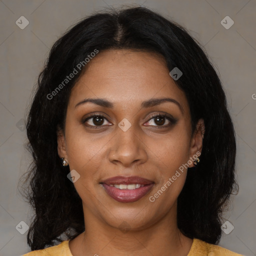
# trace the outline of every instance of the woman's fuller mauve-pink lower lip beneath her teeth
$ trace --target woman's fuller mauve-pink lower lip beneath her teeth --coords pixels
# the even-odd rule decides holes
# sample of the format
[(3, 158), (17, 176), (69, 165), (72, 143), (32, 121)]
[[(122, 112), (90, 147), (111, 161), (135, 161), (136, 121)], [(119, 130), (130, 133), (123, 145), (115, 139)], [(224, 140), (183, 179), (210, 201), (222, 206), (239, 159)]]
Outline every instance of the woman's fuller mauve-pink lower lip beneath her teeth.
[(119, 189), (102, 183), (105, 191), (118, 202), (135, 202), (143, 197), (153, 187), (153, 183), (135, 189)]

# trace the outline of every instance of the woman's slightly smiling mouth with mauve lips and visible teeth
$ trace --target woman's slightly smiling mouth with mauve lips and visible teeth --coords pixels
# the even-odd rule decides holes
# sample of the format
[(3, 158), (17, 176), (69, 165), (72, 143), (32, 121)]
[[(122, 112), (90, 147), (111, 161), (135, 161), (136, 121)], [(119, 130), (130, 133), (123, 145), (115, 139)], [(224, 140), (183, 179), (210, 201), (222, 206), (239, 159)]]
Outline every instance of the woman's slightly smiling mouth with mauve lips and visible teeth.
[(154, 182), (139, 176), (115, 176), (100, 184), (105, 192), (118, 202), (135, 202), (146, 195)]

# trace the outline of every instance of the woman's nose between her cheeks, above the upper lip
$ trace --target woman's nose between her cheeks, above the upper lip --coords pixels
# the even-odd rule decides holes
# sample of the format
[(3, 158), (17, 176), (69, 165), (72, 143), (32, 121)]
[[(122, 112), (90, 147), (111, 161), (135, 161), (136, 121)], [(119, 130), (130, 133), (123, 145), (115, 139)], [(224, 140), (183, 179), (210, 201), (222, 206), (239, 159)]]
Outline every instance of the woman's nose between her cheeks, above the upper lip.
[[(115, 136), (112, 138), (109, 150), (109, 161), (130, 167), (147, 160), (146, 145), (142, 141), (141, 132), (135, 131), (135, 125), (123, 131), (116, 127)], [(134, 127), (134, 128), (133, 128)]]

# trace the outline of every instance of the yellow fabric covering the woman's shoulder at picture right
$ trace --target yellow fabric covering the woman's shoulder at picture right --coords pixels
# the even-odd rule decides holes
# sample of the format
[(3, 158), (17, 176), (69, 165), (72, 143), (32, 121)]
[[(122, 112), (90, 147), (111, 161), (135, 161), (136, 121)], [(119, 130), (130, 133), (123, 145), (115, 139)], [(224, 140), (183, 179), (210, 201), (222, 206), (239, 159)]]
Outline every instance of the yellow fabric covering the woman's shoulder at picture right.
[(225, 249), (215, 244), (204, 242), (200, 239), (193, 239), (188, 256), (243, 256), (231, 250)]

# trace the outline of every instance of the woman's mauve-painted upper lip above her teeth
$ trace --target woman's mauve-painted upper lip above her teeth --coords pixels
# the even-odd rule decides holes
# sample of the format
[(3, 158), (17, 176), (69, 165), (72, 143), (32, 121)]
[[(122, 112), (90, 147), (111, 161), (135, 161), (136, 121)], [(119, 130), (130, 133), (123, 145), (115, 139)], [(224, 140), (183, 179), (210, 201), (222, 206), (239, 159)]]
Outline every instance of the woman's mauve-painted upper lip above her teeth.
[(107, 185), (110, 184), (142, 184), (142, 185), (147, 185), (153, 183), (152, 180), (142, 178), (139, 176), (129, 176), (129, 177), (124, 177), (124, 176), (115, 176), (115, 177), (110, 177), (107, 178), (100, 183), (105, 183)]

